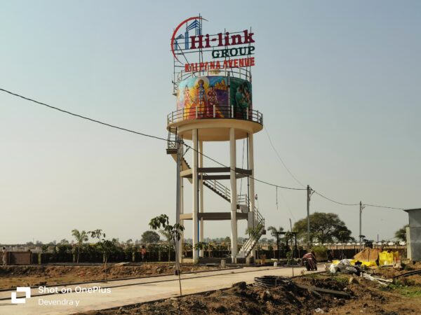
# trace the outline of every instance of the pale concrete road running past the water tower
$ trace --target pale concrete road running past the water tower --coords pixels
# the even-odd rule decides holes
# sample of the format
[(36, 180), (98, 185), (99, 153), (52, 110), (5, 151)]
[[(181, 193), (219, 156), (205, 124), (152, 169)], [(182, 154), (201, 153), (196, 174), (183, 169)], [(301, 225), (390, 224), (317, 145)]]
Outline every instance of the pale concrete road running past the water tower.
[[(294, 268), (300, 274), (302, 268)], [(182, 274), (182, 293), (200, 293), (208, 290), (229, 288), (232, 283), (246, 281), (252, 283), (255, 276), (292, 276), (290, 267), (246, 267), (241, 269), (218, 270), (197, 274)], [(86, 290), (100, 287), (98, 292)], [(53, 287), (55, 288), (55, 287)], [(58, 286), (68, 293), (40, 293), (39, 288), (31, 290), (31, 297), (25, 304), (12, 304), (13, 290), (0, 293), (0, 314), (72, 314), (78, 311), (107, 309), (127, 304), (149, 302), (178, 296), (177, 276), (159, 276), (142, 279), (112, 281), (109, 283), (85, 283), (76, 286)], [(80, 292), (80, 290), (85, 290)], [(18, 293), (18, 297), (25, 293)]]

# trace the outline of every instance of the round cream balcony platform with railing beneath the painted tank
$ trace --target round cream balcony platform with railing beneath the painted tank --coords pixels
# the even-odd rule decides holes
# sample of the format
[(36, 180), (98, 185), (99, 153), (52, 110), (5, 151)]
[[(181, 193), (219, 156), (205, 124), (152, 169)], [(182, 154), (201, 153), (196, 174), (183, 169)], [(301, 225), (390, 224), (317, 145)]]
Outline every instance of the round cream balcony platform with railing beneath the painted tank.
[(263, 129), (263, 114), (255, 109), (235, 106), (194, 106), (178, 109), (167, 116), (167, 129), (178, 130), (184, 139), (192, 139), (192, 130), (199, 130), (199, 141), (228, 141), (229, 129), (234, 127), (235, 138), (244, 139), (248, 133)]

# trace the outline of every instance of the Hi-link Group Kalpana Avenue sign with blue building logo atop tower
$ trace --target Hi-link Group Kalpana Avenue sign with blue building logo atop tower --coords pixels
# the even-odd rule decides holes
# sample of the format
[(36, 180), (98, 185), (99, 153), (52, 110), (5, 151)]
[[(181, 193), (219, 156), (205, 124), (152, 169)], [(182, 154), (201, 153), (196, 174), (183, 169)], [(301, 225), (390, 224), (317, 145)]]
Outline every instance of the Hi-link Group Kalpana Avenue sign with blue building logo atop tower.
[[(185, 71), (213, 71), (226, 68), (241, 68), (255, 65), (254, 33), (243, 31), (223, 31), (218, 34), (201, 34), (204, 18), (197, 16), (184, 20), (175, 28), (171, 37), (171, 51), (178, 62), (182, 62), (185, 52), (210, 52), (213, 61), (184, 63)], [(206, 20), (205, 20), (206, 21)], [(185, 27), (185, 28), (184, 28)], [(190, 35), (189, 31), (194, 31)], [(241, 47), (238, 47), (242, 45)], [(233, 47), (234, 46), (234, 47)], [(225, 58), (225, 60), (218, 60)], [(233, 58), (233, 59), (232, 59)]]

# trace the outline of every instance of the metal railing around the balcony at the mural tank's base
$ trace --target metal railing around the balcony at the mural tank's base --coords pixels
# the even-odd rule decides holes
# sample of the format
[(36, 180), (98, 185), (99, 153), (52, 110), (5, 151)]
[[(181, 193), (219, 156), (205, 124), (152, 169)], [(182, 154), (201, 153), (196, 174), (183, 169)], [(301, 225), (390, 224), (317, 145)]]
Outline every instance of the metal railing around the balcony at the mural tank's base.
[(263, 125), (263, 114), (254, 109), (241, 109), (236, 106), (194, 106), (178, 109), (167, 116), (167, 124), (193, 119), (239, 119)]

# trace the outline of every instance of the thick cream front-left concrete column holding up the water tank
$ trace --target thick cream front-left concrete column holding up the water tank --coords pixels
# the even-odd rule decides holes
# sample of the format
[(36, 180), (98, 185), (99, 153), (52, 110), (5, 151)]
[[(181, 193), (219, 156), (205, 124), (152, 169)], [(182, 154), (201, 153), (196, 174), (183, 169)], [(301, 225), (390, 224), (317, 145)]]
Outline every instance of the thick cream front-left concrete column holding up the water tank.
[(192, 202), (192, 222), (193, 222), (193, 260), (197, 262), (199, 260), (199, 251), (194, 249), (194, 246), (199, 241), (199, 221), (197, 218), (197, 214), (199, 212), (199, 183), (198, 183), (198, 174), (197, 174), (197, 156), (198, 156), (198, 147), (197, 147), (197, 130), (192, 130), (192, 141), (193, 141), (193, 164), (192, 164), (192, 186), (193, 186), (193, 202)]

